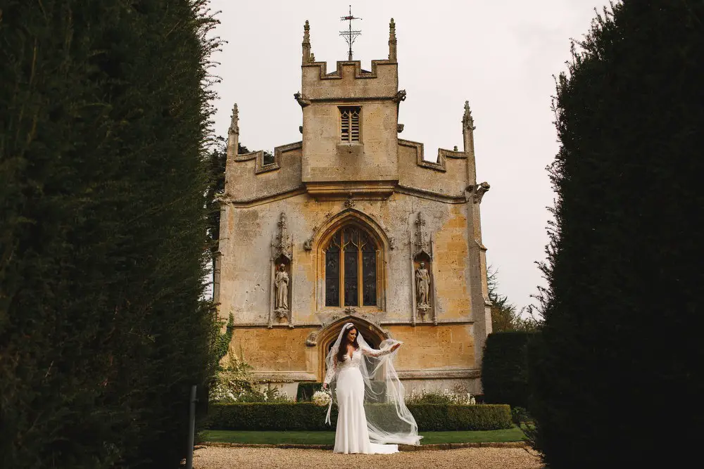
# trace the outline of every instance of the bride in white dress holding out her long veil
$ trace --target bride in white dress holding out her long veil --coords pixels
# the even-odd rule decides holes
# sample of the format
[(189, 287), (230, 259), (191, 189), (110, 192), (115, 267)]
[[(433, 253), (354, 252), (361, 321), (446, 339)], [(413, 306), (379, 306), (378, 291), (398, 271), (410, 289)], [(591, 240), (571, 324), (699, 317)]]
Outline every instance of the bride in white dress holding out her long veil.
[[(420, 444), (418, 426), (403, 401), (393, 357), (401, 342), (384, 340), (380, 349), (367, 345), (353, 323), (342, 326), (327, 354), (322, 387), (337, 398), (335, 453), (391, 454), (398, 444)], [(332, 401), (327, 409), (330, 423)]]

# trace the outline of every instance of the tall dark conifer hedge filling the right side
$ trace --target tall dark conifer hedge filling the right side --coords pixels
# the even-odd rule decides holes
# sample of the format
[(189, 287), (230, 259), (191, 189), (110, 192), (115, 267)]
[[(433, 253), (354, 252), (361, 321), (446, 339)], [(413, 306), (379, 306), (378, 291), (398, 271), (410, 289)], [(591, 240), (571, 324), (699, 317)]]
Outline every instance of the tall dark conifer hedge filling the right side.
[(702, 413), (704, 1), (615, 4), (555, 98), (558, 200), (529, 380), (551, 468), (679, 467)]

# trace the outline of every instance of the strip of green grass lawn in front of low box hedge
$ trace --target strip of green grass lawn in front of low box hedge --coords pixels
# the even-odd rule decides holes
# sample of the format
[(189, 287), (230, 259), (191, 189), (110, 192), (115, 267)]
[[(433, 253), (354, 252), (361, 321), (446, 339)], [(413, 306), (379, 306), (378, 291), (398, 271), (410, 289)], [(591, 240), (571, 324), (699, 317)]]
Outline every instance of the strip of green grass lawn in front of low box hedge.
[[(513, 427), (508, 430), (488, 430), (484, 432), (420, 432), (421, 444), (436, 443), (503, 443), (520, 442), (523, 432)], [(335, 432), (250, 432), (234, 430), (205, 430), (201, 441), (222, 443), (295, 443), (295, 444), (334, 444)]]

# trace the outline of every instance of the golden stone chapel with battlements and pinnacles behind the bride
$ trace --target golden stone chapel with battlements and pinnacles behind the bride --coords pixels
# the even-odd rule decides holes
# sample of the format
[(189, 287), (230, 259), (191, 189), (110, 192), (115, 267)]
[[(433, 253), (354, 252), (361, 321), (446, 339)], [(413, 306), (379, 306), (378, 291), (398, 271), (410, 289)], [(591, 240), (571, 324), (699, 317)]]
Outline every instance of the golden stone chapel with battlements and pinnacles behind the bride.
[[(404, 342), (396, 370), (407, 392), (464, 385), (481, 392), (491, 333), (474, 126), (465, 102), (464, 148), (425, 160), (401, 139), (396, 31), (389, 58), (339, 61), (329, 72), (303, 28), (301, 141), (239, 155), (239, 115), (228, 131), (225, 193), (213, 295), (234, 316), (231, 349), (256, 378), (289, 396), (320, 382), (346, 321), (378, 347)], [(459, 130), (459, 129), (458, 129)]]

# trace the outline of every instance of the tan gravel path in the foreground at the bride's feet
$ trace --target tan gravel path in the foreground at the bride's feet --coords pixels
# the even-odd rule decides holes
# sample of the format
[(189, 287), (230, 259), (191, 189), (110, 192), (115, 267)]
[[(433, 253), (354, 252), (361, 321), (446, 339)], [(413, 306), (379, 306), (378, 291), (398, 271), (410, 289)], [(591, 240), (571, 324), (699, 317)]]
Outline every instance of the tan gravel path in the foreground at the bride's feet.
[(321, 449), (215, 448), (196, 449), (194, 469), (237, 468), (466, 468), (540, 469), (536, 456), (522, 448), (465, 448), (401, 451), (396, 454), (334, 454)]

